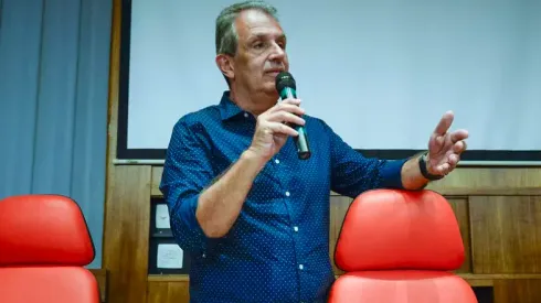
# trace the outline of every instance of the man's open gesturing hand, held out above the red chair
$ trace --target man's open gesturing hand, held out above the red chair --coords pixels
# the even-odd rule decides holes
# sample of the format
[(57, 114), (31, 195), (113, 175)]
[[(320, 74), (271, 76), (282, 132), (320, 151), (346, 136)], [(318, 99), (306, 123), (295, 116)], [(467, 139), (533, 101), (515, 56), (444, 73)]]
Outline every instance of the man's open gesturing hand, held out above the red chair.
[(455, 116), (447, 111), (439, 120), (428, 141), (426, 169), (434, 175), (450, 173), (460, 160), (460, 153), (466, 150), (468, 131), (460, 129), (449, 132)]

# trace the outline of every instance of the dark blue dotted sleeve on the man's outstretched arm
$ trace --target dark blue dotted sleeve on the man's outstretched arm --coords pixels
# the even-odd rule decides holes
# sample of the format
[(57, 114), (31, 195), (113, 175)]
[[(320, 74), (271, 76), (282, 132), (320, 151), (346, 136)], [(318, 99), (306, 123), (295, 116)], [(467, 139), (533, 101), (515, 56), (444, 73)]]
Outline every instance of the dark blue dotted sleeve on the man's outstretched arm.
[(365, 158), (346, 143), (323, 122), (331, 149), (331, 190), (357, 197), (374, 188), (404, 188), (401, 171), (407, 159), (381, 160)]

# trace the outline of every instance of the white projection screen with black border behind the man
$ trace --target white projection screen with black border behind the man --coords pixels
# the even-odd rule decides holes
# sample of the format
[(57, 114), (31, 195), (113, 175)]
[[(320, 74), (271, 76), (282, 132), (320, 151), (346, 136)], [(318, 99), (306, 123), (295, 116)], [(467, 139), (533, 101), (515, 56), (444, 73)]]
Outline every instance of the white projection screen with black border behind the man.
[[(118, 161), (162, 161), (174, 123), (227, 89), (215, 19), (227, 0), (125, 0)], [(446, 110), (462, 163), (541, 162), (541, 1), (268, 0), (307, 113), (367, 156), (427, 148)]]

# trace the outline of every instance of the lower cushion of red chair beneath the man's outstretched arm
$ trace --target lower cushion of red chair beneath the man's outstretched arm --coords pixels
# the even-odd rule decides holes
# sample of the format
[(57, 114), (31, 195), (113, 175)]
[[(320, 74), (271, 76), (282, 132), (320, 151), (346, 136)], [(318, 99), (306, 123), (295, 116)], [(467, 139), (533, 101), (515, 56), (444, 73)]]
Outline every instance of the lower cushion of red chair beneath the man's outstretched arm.
[(332, 303), (477, 303), (471, 286), (450, 272), (389, 270), (348, 272), (332, 285)]

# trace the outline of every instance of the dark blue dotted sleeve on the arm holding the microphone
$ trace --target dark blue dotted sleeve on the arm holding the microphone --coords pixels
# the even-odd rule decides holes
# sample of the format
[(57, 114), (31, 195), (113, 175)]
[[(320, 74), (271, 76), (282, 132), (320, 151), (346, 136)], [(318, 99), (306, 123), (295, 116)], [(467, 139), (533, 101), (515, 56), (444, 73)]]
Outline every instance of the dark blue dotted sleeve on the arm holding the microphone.
[[(197, 128), (197, 126), (194, 126)], [(178, 245), (204, 255), (218, 239), (208, 238), (195, 217), (201, 192), (214, 177), (210, 145), (183, 123), (173, 127), (167, 150), (160, 191), (169, 207), (171, 231)]]

